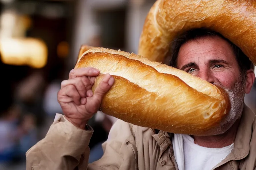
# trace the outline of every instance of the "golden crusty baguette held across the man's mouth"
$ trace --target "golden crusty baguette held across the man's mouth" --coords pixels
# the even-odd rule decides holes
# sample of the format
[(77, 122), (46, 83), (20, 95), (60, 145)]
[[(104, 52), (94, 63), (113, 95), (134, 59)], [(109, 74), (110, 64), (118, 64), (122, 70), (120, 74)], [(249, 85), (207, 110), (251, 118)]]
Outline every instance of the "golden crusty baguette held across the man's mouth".
[(124, 51), (91, 48), (79, 56), (75, 68), (100, 70), (115, 83), (101, 103), (105, 114), (141, 127), (171, 133), (206, 135), (228, 114), (226, 92), (184, 71)]

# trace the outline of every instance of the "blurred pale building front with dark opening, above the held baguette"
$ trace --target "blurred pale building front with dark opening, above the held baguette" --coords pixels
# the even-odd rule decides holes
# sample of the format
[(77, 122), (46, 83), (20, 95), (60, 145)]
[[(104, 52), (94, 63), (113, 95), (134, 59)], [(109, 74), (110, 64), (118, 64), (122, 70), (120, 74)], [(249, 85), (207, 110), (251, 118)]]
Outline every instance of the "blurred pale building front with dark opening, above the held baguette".
[(76, 61), (79, 46), (84, 43), (137, 53), (144, 21), (154, 2), (80, 0), (73, 39), (73, 62)]

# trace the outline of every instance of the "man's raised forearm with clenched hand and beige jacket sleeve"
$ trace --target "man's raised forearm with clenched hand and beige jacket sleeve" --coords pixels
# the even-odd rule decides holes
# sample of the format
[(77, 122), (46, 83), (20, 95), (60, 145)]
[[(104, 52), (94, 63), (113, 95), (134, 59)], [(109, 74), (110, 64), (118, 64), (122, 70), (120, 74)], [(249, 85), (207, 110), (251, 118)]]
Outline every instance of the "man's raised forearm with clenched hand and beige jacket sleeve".
[(115, 81), (110, 74), (105, 74), (93, 92), (99, 73), (92, 67), (73, 69), (69, 79), (62, 81), (58, 102), (65, 118), (59, 115), (46, 137), (28, 150), (28, 170), (86, 169), (93, 133), (87, 122), (99, 110), (104, 94)]

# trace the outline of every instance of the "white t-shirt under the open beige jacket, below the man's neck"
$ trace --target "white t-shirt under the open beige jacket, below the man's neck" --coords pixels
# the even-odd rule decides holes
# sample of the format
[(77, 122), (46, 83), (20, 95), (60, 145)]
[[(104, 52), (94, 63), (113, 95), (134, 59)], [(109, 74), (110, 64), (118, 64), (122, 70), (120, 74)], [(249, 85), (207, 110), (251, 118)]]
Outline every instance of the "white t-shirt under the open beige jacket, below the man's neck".
[(182, 134), (184, 142), (185, 170), (211, 170), (220, 163), (234, 148), (232, 143), (222, 148), (207, 148), (194, 143), (194, 139)]

